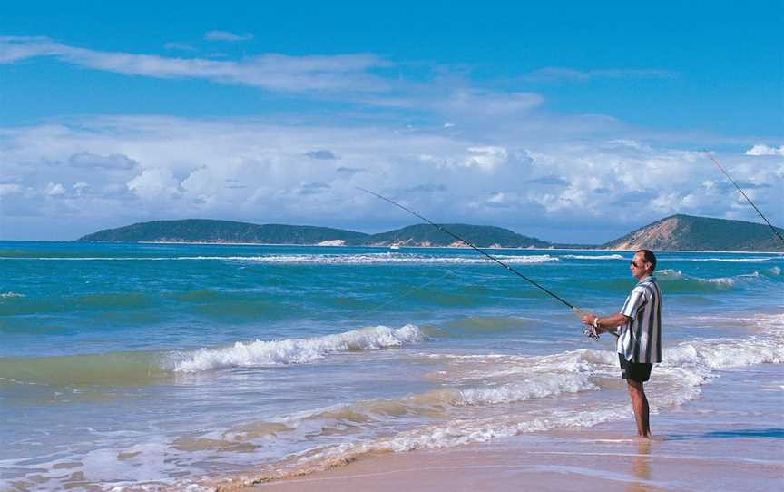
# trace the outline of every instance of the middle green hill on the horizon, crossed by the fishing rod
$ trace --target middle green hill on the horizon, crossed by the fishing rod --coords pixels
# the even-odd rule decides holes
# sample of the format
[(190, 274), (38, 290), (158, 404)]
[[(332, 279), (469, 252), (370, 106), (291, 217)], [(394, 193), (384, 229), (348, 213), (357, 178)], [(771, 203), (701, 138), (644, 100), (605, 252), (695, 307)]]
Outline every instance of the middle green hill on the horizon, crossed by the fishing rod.
[[(548, 248), (551, 244), (530, 238), (501, 227), (469, 224), (441, 224), (449, 231), (470, 241), (475, 246), (503, 248)], [(430, 224), (409, 225), (395, 231), (381, 232), (368, 236), (365, 243), (374, 246), (464, 246), (460, 241), (437, 230)]]

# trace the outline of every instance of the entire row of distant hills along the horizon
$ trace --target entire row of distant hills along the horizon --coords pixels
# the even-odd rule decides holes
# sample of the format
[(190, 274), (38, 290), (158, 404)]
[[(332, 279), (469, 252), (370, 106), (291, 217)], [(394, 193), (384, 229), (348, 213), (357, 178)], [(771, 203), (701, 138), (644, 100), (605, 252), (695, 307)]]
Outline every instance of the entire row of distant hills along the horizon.
[[(601, 246), (553, 244), (501, 227), (443, 224), (446, 229), (479, 247), (580, 247), (606, 250), (784, 251), (767, 225), (672, 215)], [(779, 229), (784, 234), (784, 230)], [(429, 224), (366, 234), (329, 227), (251, 224), (236, 221), (188, 219), (140, 222), (88, 234), (77, 241), (108, 242), (250, 242), (260, 244), (324, 244), (330, 246), (463, 246)]]

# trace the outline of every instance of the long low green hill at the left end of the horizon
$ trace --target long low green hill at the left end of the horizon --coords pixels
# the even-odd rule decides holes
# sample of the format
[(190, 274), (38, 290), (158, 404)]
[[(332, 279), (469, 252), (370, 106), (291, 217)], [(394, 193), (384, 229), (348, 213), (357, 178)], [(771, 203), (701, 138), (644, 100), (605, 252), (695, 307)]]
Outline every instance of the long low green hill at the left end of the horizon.
[(259, 242), (265, 244), (318, 244), (322, 241), (362, 243), (368, 234), (328, 227), (251, 224), (235, 221), (186, 219), (140, 222), (88, 234), (77, 241), (108, 242)]

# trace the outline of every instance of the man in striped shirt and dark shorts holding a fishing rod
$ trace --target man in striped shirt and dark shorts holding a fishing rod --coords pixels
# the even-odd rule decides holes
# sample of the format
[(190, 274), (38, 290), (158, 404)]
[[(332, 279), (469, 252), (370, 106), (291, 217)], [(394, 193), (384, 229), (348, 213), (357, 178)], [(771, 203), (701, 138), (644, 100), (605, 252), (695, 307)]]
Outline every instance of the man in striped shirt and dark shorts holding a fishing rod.
[(656, 269), (656, 256), (652, 251), (635, 252), (629, 268), (639, 281), (623, 303), (621, 312), (602, 318), (586, 314), (583, 323), (592, 327), (596, 334), (610, 332), (618, 337), (621, 376), (626, 379), (632, 398), (637, 435), (650, 438), (650, 410), (642, 384), (651, 377), (653, 364), (662, 362), (662, 291), (652, 276)]

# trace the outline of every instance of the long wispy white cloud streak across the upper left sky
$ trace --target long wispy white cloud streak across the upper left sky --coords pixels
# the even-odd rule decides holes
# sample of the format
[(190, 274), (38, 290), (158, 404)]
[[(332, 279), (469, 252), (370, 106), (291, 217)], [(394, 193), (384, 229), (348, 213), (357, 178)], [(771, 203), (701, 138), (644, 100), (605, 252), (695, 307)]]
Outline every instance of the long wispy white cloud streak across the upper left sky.
[[(185, 44), (169, 43), (167, 50), (193, 51)], [(209, 56), (172, 56), (106, 52), (57, 43), (42, 37), (0, 36), (0, 64), (49, 57), (62, 63), (158, 79), (201, 79), (215, 84), (236, 84), (277, 93), (375, 106), (395, 112), (436, 113), (451, 128), (477, 121), (523, 124), (521, 118), (544, 103), (530, 92), (489, 91), (466, 81), (435, 76), (427, 82), (407, 78), (407, 66), (376, 54), (289, 56), (259, 54), (237, 60)], [(394, 74), (389, 68), (396, 68)], [(607, 126), (607, 121), (602, 122)], [(595, 126), (596, 122), (590, 123)], [(412, 126), (413, 128), (413, 126)]]

